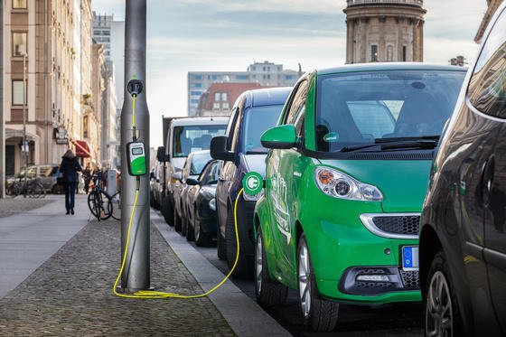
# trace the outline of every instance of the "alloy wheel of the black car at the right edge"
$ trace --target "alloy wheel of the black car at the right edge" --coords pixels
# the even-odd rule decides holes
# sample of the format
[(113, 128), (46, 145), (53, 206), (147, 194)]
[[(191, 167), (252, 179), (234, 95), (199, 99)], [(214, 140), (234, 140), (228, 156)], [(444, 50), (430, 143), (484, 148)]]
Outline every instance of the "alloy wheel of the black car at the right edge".
[(445, 274), (436, 271), (430, 280), (426, 298), (426, 335), (453, 336), (452, 297)]

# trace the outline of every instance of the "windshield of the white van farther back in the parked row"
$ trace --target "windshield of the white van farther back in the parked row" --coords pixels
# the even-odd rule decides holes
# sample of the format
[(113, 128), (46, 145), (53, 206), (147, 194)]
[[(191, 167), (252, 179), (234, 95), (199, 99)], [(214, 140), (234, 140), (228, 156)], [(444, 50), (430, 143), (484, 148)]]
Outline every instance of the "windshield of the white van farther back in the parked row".
[(193, 151), (209, 150), (211, 138), (225, 134), (226, 125), (174, 126), (173, 157), (187, 157)]

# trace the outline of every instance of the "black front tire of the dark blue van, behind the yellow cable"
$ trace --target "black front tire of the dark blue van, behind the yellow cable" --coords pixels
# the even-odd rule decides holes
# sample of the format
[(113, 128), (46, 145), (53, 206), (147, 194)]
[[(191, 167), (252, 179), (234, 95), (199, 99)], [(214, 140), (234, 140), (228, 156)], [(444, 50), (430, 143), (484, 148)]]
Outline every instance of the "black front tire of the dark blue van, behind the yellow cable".
[[(241, 238), (239, 236), (239, 245), (242, 243)], [(229, 208), (227, 212), (227, 222), (225, 223), (225, 246), (227, 248), (227, 265), (229, 270), (234, 267), (234, 262), (237, 257), (237, 239), (236, 239), (236, 230), (234, 223), (234, 214)], [(239, 247), (239, 258), (237, 265), (232, 273), (232, 276), (239, 278), (246, 278), (251, 275), (251, 270), (248, 267), (248, 260), (246, 256), (242, 253)]]

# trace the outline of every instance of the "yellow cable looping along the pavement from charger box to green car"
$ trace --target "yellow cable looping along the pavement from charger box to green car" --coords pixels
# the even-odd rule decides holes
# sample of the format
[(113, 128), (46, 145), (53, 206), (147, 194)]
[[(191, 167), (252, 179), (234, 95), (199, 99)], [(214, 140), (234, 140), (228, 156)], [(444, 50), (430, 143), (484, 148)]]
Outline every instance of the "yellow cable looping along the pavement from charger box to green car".
[(204, 296), (210, 295), (212, 292), (214, 292), (216, 289), (218, 289), (220, 286), (222, 286), (225, 283), (225, 281), (227, 281), (227, 279), (230, 277), (230, 275), (234, 272), (234, 269), (236, 268), (238, 260), (239, 260), (239, 248), (240, 247), (239, 247), (239, 232), (238, 232), (238, 225), (237, 225), (237, 205), (238, 205), (240, 194), (243, 191), (244, 191), (244, 189), (241, 188), (239, 191), (239, 194), (236, 198), (236, 201), (234, 202), (234, 228), (236, 230), (236, 244), (237, 244), (236, 259), (234, 261), (234, 265), (231, 267), (231, 269), (229, 271), (229, 274), (227, 274), (227, 276), (225, 276), (225, 278), (223, 278), (218, 285), (213, 286), (210, 290), (208, 290), (207, 292), (200, 294), (200, 295), (181, 295), (181, 294), (175, 294), (175, 293), (159, 292), (159, 291), (154, 291), (154, 290), (141, 290), (141, 291), (134, 293), (133, 295), (126, 295), (126, 294), (119, 294), (116, 289), (117, 289), (117, 283), (119, 282), (119, 278), (121, 277), (121, 274), (123, 274), (123, 269), (125, 267), (126, 254), (128, 252), (128, 244), (130, 241), (130, 229), (132, 229), (132, 221), (134, 220), (134, 211), (136, 210), (137, 197), (139, 195), (139, 190), (137, 189), (136, 190), (136, 199), (134, 200), (134, 207), (132, 208), (132, 213), (130, 214), (130, 221), (128, 223), (128, 234), (126, 235), (125, 253), (123, 254), (123, 260), (121, 261), (121, 268), (119, 269), (119, 274), (117, 275), (116, 282), (114, 283), (114, 287), (113, 287), (114, 294), (117, 296), (126, 297), (126, 298), (145, 298), (145, 299), (148, 299), (148, 298), (154, 298), (154, 299), (156, 299), (156, 298), (169, 298), (169, 297), (172, 297), (172, 298), (199, 298), (199, 297), (204, 297)]

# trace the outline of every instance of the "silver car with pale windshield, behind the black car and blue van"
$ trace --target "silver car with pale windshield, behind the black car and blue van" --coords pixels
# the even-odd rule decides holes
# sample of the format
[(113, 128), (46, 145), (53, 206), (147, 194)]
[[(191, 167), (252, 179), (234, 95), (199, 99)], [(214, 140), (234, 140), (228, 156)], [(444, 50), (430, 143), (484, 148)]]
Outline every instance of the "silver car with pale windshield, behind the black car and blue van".
[[(173, 186), (174, 198), (174, 229), (181, 231), (183, 237), (188, 234), (188, 216), (186, 205), (186, 193), (188, 192), (188, 178), (197, 179), (202, 172), (205, 164), (211, 160), (209, 150), (195, 151), (188, 154), (184, 162), (183, 170), (173, 173), (175, 181)], [(192, 237), (190, 237), (192, 239)]]

